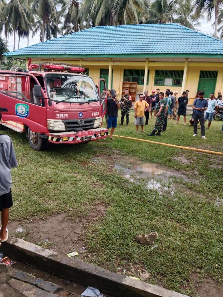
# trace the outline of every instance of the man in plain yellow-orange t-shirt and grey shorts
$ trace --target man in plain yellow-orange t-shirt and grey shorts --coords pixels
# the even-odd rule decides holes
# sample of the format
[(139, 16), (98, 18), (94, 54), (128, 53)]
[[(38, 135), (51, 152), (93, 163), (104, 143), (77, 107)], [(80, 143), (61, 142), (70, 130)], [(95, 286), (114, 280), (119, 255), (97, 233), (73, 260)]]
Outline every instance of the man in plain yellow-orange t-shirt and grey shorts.
[[(151, 98), (150, 98), (151, 99)], [(143, 100), (143, 94), (139, 94), (139, 100), (136, 101), (134, 105), (134, 111), (135, 111), (135, 125), (136, 125), (136, 131), (139, 133), (139, 125), (141, 125), (141, 131), (145, 132), (143, 130), (144, 128), (144, 115), (149, 107), (149, 104), (146, 102), (146, 100)]]

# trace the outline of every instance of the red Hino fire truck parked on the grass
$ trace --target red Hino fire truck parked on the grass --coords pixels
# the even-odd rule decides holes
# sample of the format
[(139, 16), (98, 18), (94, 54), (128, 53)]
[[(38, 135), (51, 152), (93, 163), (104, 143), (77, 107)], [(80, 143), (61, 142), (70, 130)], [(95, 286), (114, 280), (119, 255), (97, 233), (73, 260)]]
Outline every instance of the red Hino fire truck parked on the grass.
[[(108, 136), (108, 129), (100, 127), (106, 93), (100, 98), (92, 78), (81, 74), (83, 67), (31, 64), (31, 59), (28, 66), (28, 72), (20, 67), (0, 71), (0, 129), (25, 132), (37, 151), (48, 141), (75, 144)], [(104, 80), (99, 86), (106, 90)]]

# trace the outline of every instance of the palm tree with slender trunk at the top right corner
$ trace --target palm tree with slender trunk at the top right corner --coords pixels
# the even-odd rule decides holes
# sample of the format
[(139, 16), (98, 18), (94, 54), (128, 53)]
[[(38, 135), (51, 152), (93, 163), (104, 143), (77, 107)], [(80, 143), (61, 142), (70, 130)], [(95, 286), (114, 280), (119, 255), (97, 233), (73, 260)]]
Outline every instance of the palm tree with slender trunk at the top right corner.
[(214, 37), (218, 32), (218, 15), (222, 6), (222, 0), (195, 0), (196, 13), (207, 13), (207, 20), (210, 21), (214, 13)]

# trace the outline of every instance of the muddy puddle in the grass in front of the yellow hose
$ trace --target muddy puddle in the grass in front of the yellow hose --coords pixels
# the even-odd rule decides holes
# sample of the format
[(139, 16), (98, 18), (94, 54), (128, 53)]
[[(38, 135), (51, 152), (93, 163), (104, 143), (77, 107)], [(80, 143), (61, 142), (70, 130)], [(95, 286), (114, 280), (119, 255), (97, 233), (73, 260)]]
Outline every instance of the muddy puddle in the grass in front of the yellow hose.
[(189, 181), (183, 174), (170, 170), (165, 166), (156, 163), (143, 163), (137, 158), (129, 157), (94, 157), (94, 163), (109, 164), (109, 171), (117, 170), (119, 174), (128, 179), (130, 182), (138, 184), (141, 179), (147, 181), (149, 190), (157, 190), (160, 194), (174, 194), (174, 187), (169, 184), (173, 177), (183, 178)]

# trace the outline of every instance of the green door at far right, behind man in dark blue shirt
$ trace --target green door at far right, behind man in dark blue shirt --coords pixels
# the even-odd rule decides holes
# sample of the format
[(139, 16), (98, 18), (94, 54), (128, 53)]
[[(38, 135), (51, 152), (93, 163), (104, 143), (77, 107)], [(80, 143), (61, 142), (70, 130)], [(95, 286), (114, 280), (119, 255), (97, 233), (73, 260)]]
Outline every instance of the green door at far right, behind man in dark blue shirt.
[(209, 98), (214, 93), (217, 81), (217, 71), (201, 71), (197, 91), (204, 92), (204, 97)]

